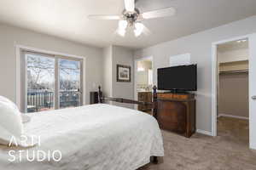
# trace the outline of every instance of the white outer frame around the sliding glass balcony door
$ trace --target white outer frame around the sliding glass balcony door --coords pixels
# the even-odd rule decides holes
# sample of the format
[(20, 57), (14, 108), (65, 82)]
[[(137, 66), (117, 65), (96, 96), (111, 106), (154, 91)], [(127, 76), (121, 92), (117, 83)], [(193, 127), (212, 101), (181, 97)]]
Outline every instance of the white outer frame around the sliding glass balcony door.
[(82, 105), (86, 104), (86, 83), (85, 83), (85, 64), (86, 64), (86, 57), (84, 56), (78, 56), (78, 55), (73, 55), (73, 54), (64, 54), (64, 53), (59, 53), (59, 52), (54, 52), (54, 51), (49, 51), (49, 50), (45, 50), (45, 49), (40, 49), (40, 48), (32, 48), (32, 47), (27, 47), (24, 45), (20, 45), (20, 44), (16, 44), (15, 45), (15, 53), (16, 53), (16, 105), (18, 106), (18, 108), (21, 108), (21, 104), (22, 102), (20, 101), (20, 97), (21, 97), (21, 57), (23, 57), (22, 55), (22, 51), (30, 51), (30, 52), (34, 52), (34, 53), (38, 53), (38, 54), (47, 54), (47, 55), (55, 55), (57, 56), (57, 58), (59, 56), (65, 56), (67, 58), (70, 59), (76, 59), (76, 60), (82, 60), (82, 84), (83, 87), (81, 87), (82, 89)]

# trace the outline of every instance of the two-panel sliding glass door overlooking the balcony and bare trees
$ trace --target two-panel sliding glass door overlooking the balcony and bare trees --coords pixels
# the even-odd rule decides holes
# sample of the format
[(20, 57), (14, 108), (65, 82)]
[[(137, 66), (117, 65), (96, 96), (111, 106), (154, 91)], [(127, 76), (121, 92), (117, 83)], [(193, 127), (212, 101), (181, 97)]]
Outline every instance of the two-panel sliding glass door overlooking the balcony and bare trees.
[(83, 62), (49, 54), (23, 52), (23, 111), (38, 112), (82, 105)]

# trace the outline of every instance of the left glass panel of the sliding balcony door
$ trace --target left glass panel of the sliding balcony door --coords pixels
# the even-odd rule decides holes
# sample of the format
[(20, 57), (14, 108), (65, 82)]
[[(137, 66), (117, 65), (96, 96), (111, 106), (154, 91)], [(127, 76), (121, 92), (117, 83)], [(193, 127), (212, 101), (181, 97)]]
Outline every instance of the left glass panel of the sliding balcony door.
[(55, 59), (25, 54), (26, 112), (55, 109)]

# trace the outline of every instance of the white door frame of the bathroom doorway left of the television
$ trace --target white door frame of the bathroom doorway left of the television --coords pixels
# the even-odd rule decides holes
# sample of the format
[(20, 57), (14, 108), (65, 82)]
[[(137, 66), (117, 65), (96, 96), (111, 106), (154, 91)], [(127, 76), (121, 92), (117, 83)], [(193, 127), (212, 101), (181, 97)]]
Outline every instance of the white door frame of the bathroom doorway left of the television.
[[(153, 74), (153, 83), (154, 83), (154, 58), (153, 56), (147, 56), (147, 57), (142, 57), (139, 59), (134, 59), (134, 71), (133, 71), (133, 77), (134, 77), (134, 85), (133, 85), (133, 89), (134, 89), (134, 99), (137, 100), (137, 61), (142, 61), (145, 59), (150, 59), (152, 62), (152, 74)], [(134, 105), (134, 108), (137, 109), (137, 105)]]

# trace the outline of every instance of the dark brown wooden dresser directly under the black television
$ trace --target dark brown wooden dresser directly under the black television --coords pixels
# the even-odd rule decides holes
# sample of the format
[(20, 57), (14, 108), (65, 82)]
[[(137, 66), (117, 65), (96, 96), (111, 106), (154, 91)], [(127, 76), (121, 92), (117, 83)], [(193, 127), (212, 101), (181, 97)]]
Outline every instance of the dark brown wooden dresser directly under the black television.
[(157, 94), (160, 128), (189, 138), (195, 133), (195, 94)]

